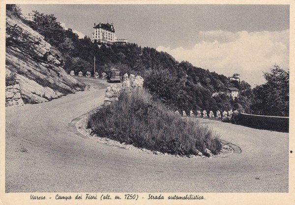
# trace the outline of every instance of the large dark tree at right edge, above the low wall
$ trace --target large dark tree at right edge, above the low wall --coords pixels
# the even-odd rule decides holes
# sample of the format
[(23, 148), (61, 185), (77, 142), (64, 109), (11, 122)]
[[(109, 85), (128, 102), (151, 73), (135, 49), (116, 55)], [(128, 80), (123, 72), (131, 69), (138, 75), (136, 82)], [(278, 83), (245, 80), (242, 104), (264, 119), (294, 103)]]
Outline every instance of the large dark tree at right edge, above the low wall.
[(253, 89), (253, 113), (268, 116), (289, 116), (289, 71), (278, 65), (264, 73), (266, 84)]

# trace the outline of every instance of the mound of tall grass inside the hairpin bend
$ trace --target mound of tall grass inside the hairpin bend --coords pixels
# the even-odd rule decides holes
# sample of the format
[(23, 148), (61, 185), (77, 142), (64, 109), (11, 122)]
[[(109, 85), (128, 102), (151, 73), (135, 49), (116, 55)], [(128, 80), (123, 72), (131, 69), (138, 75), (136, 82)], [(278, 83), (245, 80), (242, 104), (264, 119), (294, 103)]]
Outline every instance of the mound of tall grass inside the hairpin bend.
[(221, 149), (219, 136), (152, 100), (145, 89), (121, 92), (119, 101), (90, 114), (88, 127), (98, 136), (163, 153), (206, 155)]

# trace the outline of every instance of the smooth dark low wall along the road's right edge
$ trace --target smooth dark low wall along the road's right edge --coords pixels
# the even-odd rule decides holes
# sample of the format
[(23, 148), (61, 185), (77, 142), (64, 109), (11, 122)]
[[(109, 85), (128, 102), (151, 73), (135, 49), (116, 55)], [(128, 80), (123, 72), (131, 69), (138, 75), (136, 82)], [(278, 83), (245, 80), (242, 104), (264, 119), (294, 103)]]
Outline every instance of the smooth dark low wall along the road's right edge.
[(289, 117), (260, 116), (239, 113), (236, 123), (257, 129), (289, 132)]

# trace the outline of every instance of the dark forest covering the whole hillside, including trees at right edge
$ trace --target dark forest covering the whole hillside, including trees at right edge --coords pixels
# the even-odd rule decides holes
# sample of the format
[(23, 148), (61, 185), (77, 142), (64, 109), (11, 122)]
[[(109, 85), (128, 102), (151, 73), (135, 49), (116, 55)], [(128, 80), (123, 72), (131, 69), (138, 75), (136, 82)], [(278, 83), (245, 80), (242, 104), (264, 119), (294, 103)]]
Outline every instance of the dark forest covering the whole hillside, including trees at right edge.
[[(17, 6), (10, 6), (7, 9), (17, 15), (20, 13)], [(47, 42), (63, 54), (63, 68), (68, 73), (74, 70), (76, 75), (79, 71), (85, 75), (89, 71), (93, 76), (95, 57), (98, 73), (107, 72), (115, 67), (122, 73), (139, 74), (144, 77), (144, 86), (153, 96), (173, 110), (189, 112), (233, 109), (253, 114), (289, 115), (289, 75), (287, 79), (282, 69), (277, 71), (280, 72), (281, 81), (288, 81), (288, 92), (286, 83), (277, 81), (273, 83), (273, 76), (267, 73), (266, 85), (252, 90), (245, 81), (230, 83), (224, 75), (195, 67), (187, 61), (177, 62), (171, 55), (158, 52), (154, 48), (142, 48), (134, 43), (99, 47), (97, 43), (92, 43), (88, 36), (79, 39), (72, 29), (63, 29), (53, 14), (45, 15), (32, 11), (30, 15), (32, 21), (23, 18), (23, 22), (41, 33)], [(232, 99), (222, 93), (229, 87), (240, 90), (239, 98)], [(272, 90), (274, 88), (275, 91)], [(269, 93), (266, 90), (272, 91)], [(212, 97), (212, 94), (217, 92), (219, 94)], [(270, 106), (276, 102), (279, 102), (279, 105)], [(267, 113), (267, 107), (263, 108), (266, 105), (277, 112)]]

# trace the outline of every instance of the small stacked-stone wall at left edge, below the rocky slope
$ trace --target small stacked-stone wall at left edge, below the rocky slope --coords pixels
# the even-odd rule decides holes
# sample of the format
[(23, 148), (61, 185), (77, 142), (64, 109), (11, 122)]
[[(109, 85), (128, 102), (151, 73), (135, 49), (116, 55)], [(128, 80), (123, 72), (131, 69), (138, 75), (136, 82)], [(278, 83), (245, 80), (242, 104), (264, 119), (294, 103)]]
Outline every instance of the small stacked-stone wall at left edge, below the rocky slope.
[(22, 106), (24, 101), (21, 97), (20, 85), (5, 87), (5, 106)]

